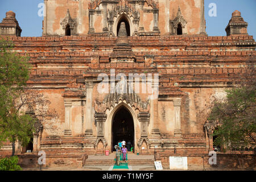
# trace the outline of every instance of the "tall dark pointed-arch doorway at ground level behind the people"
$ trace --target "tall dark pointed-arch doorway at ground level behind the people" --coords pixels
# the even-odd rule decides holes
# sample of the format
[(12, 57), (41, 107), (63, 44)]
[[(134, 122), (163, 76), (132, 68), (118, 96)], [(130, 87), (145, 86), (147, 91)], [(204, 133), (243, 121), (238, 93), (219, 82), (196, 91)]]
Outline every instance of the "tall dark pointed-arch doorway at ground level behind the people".
[[(125, 108), (121, 107), (114, 115), (113, 125), (112, 125), (112, 134), (113, 134), (113, 145), (118, 144), (119, 141), (122, 142), (124, 139), (126, 142), (126, 147), (128, 151), (131, 151), (131, 147), (134, 149), (134, 123), (133, 117), (130, 112)], [(130, 145), (129, 145), (130, 142)], [(134, 150), (133, 150), (134, 152)]]

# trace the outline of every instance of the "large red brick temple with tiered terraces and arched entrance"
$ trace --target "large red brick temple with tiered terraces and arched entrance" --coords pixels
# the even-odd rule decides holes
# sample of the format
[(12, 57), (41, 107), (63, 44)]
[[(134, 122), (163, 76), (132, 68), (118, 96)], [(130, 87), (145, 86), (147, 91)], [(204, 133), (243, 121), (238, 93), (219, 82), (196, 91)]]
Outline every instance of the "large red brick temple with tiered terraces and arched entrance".
[[(13, 11), (0, 23), (0, 35), (13, 40), (20, 55), (30, 56), (28, 88), (47, 96), (59, 115), (36, 125), (32, 154), (45, 151), (47, 165), (62, 158), (81, 163), (82, 155), (111, 153), (125, 139), (140, 155), (158, 150), (163, 162), (170, 155), (208, 156), (217, 125), (207, 121), (207, 108), (236, 86), (234, 80), (256, 54), (240, 11), (223, 27), (226, 36), (208, 36), (204, 0), (44, 2), (41, 37), (21, 37)], [(101, 73), (115, 88), (118, 74), (141, 79), (123, 92), (106, 93), (99, 90)], [(149, 82), (156, 98), (150, 97)], [(27, 149), (17, 142), (17, 154)], [(0, 150), (10, 152), (9, 144)]]

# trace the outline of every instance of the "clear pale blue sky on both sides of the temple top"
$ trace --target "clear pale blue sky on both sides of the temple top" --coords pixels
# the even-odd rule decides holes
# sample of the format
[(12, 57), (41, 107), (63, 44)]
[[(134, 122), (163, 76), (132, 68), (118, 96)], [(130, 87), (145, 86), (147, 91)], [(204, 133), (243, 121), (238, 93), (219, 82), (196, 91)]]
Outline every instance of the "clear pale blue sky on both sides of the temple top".
[[(43, 0), (0, 0), (0, 22), (7, 11), (14, 11), (22, 36), (42, 36), (43, 17), (38, 16), (38, 4)], [(210, 3), (215, 3), (217, 16), (210, 17)], [(241, 11), (243, 19), (249, 23), (248, 33), (256, 36), (256, 0), (205, 0), (205, 19), (209, 36), (225, 36), (225, 28), (234, 10)]]

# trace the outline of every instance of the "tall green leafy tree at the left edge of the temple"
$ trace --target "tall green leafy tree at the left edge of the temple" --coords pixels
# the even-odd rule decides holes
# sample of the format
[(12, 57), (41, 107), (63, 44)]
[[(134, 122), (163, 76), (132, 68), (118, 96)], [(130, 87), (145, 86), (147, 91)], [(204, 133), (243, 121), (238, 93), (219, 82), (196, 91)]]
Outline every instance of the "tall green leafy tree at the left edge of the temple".
[(22, 144), (30, 141), (35, 119), (22, 111), (22, 93), (30, 74), (28, 57), (11, 51), (13, 44), (0, 40), (0, 142), (9, 140)]

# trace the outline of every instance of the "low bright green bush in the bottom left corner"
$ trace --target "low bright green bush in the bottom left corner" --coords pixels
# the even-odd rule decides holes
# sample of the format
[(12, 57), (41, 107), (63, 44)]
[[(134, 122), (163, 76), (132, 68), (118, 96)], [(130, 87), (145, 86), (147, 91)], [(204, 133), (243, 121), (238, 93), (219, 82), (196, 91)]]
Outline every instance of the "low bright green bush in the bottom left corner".
[(3, 158), (0, 160), (0, 171), (20, 171), (22, 168), (18, 165), (18, 156)]

